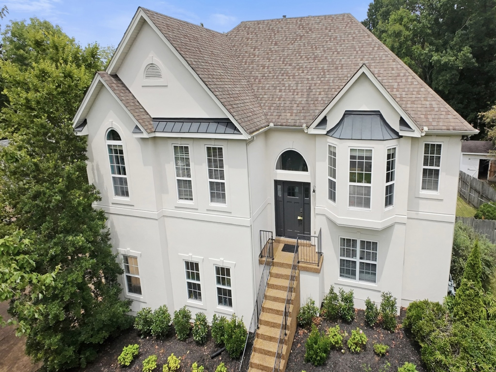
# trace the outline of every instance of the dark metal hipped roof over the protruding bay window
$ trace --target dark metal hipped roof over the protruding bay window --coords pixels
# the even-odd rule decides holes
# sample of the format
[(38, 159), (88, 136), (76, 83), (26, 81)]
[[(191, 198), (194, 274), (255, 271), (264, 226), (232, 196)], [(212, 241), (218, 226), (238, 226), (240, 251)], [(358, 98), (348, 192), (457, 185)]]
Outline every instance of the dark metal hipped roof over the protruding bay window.
[(343, 117), (326, 133), (340, 139), (373, 139), (384, 141), (399, 138), (380, 111), (345, 111)]

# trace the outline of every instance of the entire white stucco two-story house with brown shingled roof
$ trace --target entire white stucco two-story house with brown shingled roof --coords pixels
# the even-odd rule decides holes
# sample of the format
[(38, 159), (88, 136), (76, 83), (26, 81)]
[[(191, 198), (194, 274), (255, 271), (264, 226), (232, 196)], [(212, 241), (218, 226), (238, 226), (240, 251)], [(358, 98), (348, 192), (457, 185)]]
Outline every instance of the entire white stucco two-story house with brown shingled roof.
[(138, 8), (74, 130), (133, 311), (249, 319), (261, 231), (318, 239), (302, 302), (331, 285), (358, 308), (446, 295), (461, 140), (478, 131), (350, 14), (223, 34)]

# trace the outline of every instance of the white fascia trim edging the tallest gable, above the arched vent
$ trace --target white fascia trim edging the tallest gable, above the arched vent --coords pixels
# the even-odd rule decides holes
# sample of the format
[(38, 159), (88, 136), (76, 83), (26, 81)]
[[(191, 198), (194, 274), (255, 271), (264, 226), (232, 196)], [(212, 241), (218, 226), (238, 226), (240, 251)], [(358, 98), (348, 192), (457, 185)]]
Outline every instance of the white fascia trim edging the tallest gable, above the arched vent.
[[(212, 93), (212, 91), (206, 86), (206, 84), (201, 80), (201, 78), (198, 76), (198, 74), (191, 68), (188, 62), (183, 58), (181, 53), (177, 51), (176, 48), (170, 43), (169, 40), (164, 36), (164, 34), (155, 26), (155, 23), (152, 22), (152, 20), (146, 15), (146, 13), (141, 9), (141, 7), (138, 8), (136, 11), (136, 14), (132, 18), (131, 24), (127, 28), (124, 38), (119, 43), (119, 47), (117, 48), (116, 53), (114, 54), (114, 57), (112, 57), (112, 60), (109, 63), (109, 66), (107, 67), (107, 72), (109, 74), (115, 74), (117, 73), (118, 66), (117, 62), (121, 58), (121, 54), (127, 53), (125, 51), (125, 48), (127, 44), (131, 41), (131, 36), (135, 35), (135, 29), (137, 26), (141, 26), (141, 19), (144, 19), (150, 27), (157, 33), (157, 35), (162, 39), (162, 41), (169, 47), (169, 49), (174, 53), (174, 55), (183, 63), (183, 65), (186, 67), (186, 69), (193, 75), (193, 77), (198, 81), (198, 83), (205, 89), (207, 94), (214, 100), (214, 102), (219, 106), (219, 108), (226, 114), (226, 116), (233, 122), (234, 125), (241, 131), (245, 139), (249, 139), (251, 136), (243, 129), (243, 127), (234, 119), (234, 117), (231, 115), (231, 113), (224, 107), (224, 105), (219, 101), (219, 99), (215, 96), (215, 94)], [(137, 32), (137, 31), (136, 31)], [(125, 54), (124, 54), (125, 56)], [(122, 56), (124, 58), (124, 56)]]

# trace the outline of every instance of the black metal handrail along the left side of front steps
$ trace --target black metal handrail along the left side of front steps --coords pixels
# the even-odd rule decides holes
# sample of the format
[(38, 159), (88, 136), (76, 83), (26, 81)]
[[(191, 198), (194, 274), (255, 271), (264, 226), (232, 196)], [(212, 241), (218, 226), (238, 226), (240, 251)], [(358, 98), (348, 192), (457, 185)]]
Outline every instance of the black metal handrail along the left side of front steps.
[[(264, 233), (264, 234), (262, 234)], [(262, 241), (262, 235), (269, 235), (265, 233), (270, 233), (270, 237), (267, 240)], [(265, 238), (264, 238), (265, 239)], [(263, 244), (263, 245), (262, 245)], [(249, 368), (249, 360), (251, 357), (251, 351), (253, 350), (253, 342), (255, 340), (256, 330), (258, 329), (258, 322), (260, 321), (260, 313), (262, 312), (263, 299), (265, 297), (265, 290), (267, 289), (267, 282), (270, 276), (270, 267), (272, 266), (274, 257), (274, 241), (272, 239), (271, 231), (260, 231), (260, 255), (264, 248), (267, 253), (272, 252), (272, 257), (269, 254), (265, 254), (265, 261), (263, 263), (262, 275), (260, 278), (260, 284), (258, 286), (258, 293), (255, 299), (255, 306), (253, 307), (253, 314), (251, 315), (251, 321), (248, 327), (248, 335), (245, 342), (245, 349), (243, 350), (243, 356), (241, 357), (240, 372), (247, 372)]]

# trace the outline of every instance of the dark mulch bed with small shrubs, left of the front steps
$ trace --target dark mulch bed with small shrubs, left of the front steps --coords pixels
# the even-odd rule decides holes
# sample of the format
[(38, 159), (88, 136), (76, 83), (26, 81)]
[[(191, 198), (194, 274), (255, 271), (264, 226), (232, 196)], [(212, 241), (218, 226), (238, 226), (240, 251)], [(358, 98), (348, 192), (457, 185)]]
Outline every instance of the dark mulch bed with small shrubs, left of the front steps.
[[(139, 354), (134, 358), (131, 365), (121, 367), (117, 362), (117, 357), (121, 355), (124, 346), (129, 344), (139, 345)], [(95, 361), (91, 362), (86, 368), (74, 369), (71, 372), (102, 372), (102, 371), (120, 371), (131, 372), (141, 371), (143, 368), (143, 360), (150, 355), (156, 354), (157, 369), (154, 372), (162, 372), (162, 365), (167, 363), (167, 358), (174, 353), (178, 358), (181, 358), (181, 368), (179, 372), (190, 372), (191, 364), (198, 362), (205, 367), (205, 371), (214, 372), (215, 368), (224, 362), (229, 372), (235, 372), (239, 368), (239, 360), (233, 360), (229, 357), (227, 351), (223, 351), (220, 356), (210, 359), (210, 355), (215, 353), (220, 348), (215, 346), (215, 343), (208, 334), (208, 340), (203, 345), (197, 345), (193, 341), (191, 334), (186, 341), (179, 341), (176, 338), (174, 328), (162, 340), (156, 340), (153, 337), (141, 338), (134, 329), (121, 334), (115, 339), (108, 340), (98, 353)], [(241, 357), (240, 357), (241, 359)]]

